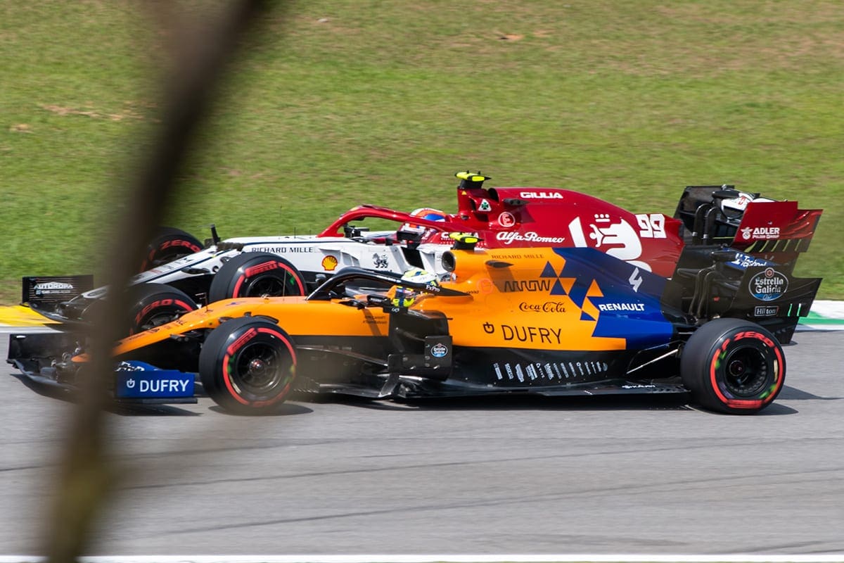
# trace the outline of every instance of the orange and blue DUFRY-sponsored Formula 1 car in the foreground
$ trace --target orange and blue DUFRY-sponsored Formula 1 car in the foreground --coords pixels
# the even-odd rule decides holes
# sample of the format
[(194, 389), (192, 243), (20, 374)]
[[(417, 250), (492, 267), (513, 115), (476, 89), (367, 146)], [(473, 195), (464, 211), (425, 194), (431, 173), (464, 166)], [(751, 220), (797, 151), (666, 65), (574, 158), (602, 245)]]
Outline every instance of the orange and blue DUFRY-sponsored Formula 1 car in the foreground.
[[(291, 392), (683, 392), (755, 413), (782, 389), (782, 344), (820, 284), (794, 277), (793, 262), (726, 247), (686, 246), (667, 279), (588, 247), (474, 241), (457, 237), (444, 253), (451, 281), (344, 268), (307, 296), (221, 300), (134, 334), (114, 351), (114, 395), (195, 401), (198, 374), (238, 413), (271, 411)], [(70, 338), (14, 334), (9, 361), (73, 388), (86, 356)]]

